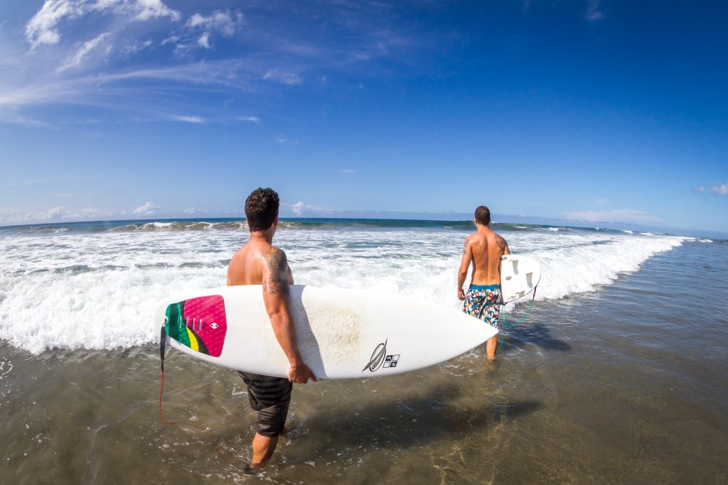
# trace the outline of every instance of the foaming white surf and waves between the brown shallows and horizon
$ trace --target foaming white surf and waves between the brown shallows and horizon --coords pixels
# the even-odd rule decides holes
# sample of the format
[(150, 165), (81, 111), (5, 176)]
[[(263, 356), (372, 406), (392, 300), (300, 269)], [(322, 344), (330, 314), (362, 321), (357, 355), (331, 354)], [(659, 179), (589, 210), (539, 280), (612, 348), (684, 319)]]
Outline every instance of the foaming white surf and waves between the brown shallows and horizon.
[[(377, 289), (453, 308), (470, 221), (282, 221), (275, 244), (297, 284)], [(594, 291), (687, 240), (631, 231), (494, 224), (514, 253), (542, 263), (537, 300)], [(52, 348), (131, 348), (154, 341), (154, 303), (223, 286), (248, 239), (240, 220), (129, 220), (0, 228), (0, 339)], [(711, 242), (702, 240), (703, 242)]]

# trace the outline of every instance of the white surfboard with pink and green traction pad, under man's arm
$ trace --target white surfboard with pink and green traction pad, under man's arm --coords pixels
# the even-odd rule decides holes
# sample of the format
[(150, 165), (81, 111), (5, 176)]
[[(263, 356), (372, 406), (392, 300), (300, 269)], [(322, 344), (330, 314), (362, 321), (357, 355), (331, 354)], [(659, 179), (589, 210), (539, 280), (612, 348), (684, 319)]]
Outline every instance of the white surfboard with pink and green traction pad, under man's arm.
[[(321, 379), (414, 371), (467, 352), (496, 334), (483, 321), (424, 300), (357, 289), (290, 286), (298, 348)], [(230, 369), (288, 377), (259, 285), (178, 294), (157, 305), (178, 350)]]

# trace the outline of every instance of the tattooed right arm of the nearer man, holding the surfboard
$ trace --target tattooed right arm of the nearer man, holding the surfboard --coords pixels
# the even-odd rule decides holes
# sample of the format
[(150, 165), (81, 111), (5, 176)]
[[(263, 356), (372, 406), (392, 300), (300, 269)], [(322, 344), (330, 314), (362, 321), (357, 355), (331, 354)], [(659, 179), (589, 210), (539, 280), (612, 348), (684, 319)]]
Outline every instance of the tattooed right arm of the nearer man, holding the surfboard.
[(316, 382), (316, 376), (311, 372), (309, 366), (304, 364), (304, 359), (301, 358), (301, 353), (298, 351), (296, 328), (293, 326), (293, 319), (290, 318), (290, 309), (288, 308), (290, 300), (288, 292), (289, 268), (285, 252), (277, 248), (271, 248), (269, 251), (264, 252), (263, 259), (265, 262), (263, 302), (271, 319), (276, 340), (278, 340), (278, 344), (283, 349), (285, 356), (288, 357), (288, 363), (290, 364), (288, 380), (298, 384), (305, 384), (310, 378)]

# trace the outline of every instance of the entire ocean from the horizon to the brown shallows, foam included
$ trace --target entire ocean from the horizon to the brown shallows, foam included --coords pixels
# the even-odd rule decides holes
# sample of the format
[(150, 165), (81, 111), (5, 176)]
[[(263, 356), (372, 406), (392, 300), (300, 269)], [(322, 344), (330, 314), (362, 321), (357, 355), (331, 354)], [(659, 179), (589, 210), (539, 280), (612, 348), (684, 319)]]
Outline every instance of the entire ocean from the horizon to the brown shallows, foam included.
[[(453, 308), (468, 222), (288, 220), (296, 283)], [(542, 263), (531, 314), (421, 372), (294, 390), (288, 434), (245, 477), (237, 374), (171, 352), (159, 423), (154, 303), (221, 286), (236, 220), (0, 228), (0, 483), (725, 483), (728, 244), (496, 224)], [(523, 315), (510, 305), (509, 315)]]

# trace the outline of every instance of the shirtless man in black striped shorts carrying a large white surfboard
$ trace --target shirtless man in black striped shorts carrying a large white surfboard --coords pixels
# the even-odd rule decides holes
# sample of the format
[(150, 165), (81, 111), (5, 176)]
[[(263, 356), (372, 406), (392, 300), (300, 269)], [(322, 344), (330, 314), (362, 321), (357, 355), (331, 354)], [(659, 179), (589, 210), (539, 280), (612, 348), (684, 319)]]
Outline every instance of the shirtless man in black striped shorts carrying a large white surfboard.
[(290, 368), (288, 379), (240, 372), (248, 388), (250, 407), (258, 412), (256, 436), (253, 437), (253, 458), (245, 472), (262, 468), (273, 456), (278, 436), (283, 431), (293, 382), (316, 382), (311, 369), (304, 364), (296, 343), (296, 329), (288, 308), (288, 285), (293, 274), (285, 252), (272, 246), (278, 227), (278, 194), (271, 188), (257, 188), (245, 200), (250, 240), (234, 254), (227, 273), (227, 285), (263, 285), (263, 302), (271, 326)]

